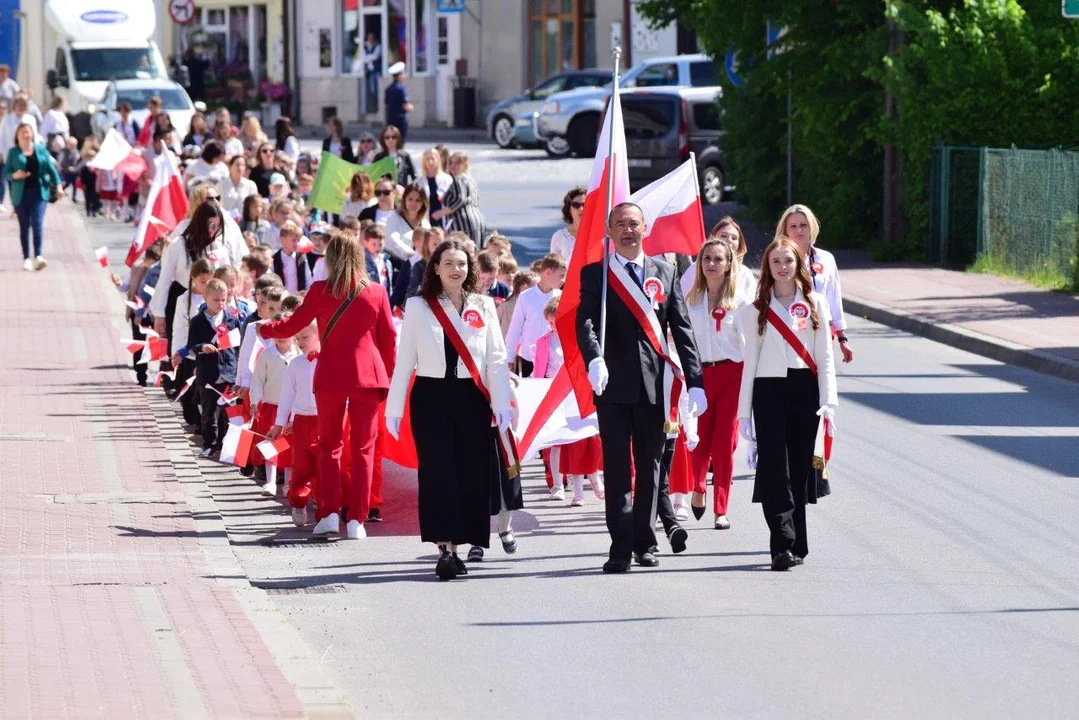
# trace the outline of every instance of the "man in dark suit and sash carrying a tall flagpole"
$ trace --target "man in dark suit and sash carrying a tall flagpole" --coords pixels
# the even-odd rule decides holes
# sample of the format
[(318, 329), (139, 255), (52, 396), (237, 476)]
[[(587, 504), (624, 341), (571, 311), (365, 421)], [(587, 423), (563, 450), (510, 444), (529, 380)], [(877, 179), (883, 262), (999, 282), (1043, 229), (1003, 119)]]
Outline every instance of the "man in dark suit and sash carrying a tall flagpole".
[[(655, 525), (664, 441), (677, 430), (683, 386), (692, 416), (708, 406), (674, 266), (644, 255), (646, 230), (639, 206), (616, 205), (607, 225), (615, 253), (581, 270), (576, 339), (596, 396), (611, 533), (603, 572), (628, 571), (631, 554), (643, 567), (659, 565)], [(668, 330), (681, 369), (671, 358)], [(680, 526), (668, 534), (675, 552), (685, 548), (686, 538)]]

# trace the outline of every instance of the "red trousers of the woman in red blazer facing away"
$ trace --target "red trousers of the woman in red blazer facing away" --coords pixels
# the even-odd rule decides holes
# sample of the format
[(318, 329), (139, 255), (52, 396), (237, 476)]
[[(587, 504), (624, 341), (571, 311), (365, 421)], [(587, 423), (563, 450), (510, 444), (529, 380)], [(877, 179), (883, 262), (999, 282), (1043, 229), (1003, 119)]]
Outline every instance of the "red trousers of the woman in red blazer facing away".
[[(371, 476), (374, 472), (374, 440), (379, 431), (379, 406), (386, 391), (379, 388), (320, 390), (315, 393), (318, 406), (318, 512), (316, 519), (340, 513), (342, 494), (350, 520), (367, 520), (370, 510)], [(342, 475), (345, 412), (349, 415), (349, 446), (352, 473)]]

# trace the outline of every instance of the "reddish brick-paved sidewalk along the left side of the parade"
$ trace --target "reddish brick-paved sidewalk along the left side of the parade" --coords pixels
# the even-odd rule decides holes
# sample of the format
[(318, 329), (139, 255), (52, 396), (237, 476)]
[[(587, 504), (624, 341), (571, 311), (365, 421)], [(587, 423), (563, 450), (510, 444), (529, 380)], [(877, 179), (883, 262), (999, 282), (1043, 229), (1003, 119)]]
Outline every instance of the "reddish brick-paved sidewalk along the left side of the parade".
[(191, 502), (134, 383), (123, 305), (78, 212), (51, 207), (45, 233), (50, 267), (26, 273), (0, 220), (3, 715), (346, 712), (305, 703), (279, 638), (260, 635), (220, 516)]

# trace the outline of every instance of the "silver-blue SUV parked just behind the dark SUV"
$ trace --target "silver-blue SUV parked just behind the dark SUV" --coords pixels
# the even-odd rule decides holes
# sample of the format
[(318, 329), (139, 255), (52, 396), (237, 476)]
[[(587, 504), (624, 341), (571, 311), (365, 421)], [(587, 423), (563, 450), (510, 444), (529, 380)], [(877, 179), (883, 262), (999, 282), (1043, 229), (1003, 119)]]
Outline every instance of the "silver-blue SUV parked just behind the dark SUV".
[[(624, 74), (619, 87), (714, 87), (715, 63), (708, 55), (673, 55), (643, 60)], [(596, 154), (596, 138), (609, 87), (572, 90), (547, 98), (533, 114), (533, 134), (551, 157)], [(559, 139), (565, 140), (558, 142)]]

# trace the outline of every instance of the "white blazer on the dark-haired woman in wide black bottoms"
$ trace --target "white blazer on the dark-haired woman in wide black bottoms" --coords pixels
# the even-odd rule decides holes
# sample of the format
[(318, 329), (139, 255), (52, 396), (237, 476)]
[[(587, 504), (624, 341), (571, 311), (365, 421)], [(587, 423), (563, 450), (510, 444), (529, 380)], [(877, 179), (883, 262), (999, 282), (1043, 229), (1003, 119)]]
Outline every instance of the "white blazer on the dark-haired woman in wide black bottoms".
[[(509, 388), (509, 368), (506, 365), (506, 343), (502, 339), (502, 328), (494, 311), (494, 300), (486, 295), (472, 294), (465, 298), (465, 311), (478, 310), (483, 326), (474, 328), (465, 324), (456, 309), (447, 299), (439, 300), (450, 322), (465, 341), (468, 352), (479, 368), (480, 377), (491, 392), (491, 406), (495, 411), (508, 411), (513, 397)], [(397, 347), (397, 364), (390, 381), (386, 398), (386, 417), (400, 418), (405, 415), (405, 398), (408, 394), (412, 371), (424, 378), (446, 377), (446, 334), (439, 325), (427, 301), (416, 296), (405, 303), (405, 322), (401, 324)], [(457, 361), (456, 377), (472, 379), (465, 364)]]

